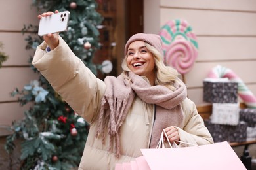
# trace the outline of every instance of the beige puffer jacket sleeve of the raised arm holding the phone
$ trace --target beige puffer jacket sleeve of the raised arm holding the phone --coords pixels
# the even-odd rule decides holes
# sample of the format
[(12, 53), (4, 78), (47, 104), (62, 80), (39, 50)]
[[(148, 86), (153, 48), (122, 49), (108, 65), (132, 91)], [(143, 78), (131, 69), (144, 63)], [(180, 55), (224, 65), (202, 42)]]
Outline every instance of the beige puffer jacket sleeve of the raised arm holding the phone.
[(59, 45), (45, 52), (47, 44), (37, 46), (32, 64), (77, 114), (91, 123), (100, 109), (105, 84), (88, 69), (60, 37)]

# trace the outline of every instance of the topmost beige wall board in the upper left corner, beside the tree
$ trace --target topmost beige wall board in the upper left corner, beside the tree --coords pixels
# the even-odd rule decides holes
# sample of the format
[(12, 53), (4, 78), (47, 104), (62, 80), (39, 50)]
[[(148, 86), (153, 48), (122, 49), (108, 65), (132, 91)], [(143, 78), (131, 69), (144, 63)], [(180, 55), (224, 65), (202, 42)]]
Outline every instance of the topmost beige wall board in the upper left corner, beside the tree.
[(0, 21), (0, 31), (20, 31), (24, 24), (39, 24), (32, 0), (0, 1)]

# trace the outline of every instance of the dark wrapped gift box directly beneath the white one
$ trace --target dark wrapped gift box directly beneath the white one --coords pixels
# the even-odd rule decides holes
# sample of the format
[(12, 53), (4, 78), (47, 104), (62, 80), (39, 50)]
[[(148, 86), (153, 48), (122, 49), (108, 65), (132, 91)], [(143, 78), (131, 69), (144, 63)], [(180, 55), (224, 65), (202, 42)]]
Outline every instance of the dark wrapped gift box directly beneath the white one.
[(214, 142), (245, 142), (247, 140), (247, 123), (240, 121), (237, 126), (213, 124), (205, 120), (205, 126), (211, 133)]

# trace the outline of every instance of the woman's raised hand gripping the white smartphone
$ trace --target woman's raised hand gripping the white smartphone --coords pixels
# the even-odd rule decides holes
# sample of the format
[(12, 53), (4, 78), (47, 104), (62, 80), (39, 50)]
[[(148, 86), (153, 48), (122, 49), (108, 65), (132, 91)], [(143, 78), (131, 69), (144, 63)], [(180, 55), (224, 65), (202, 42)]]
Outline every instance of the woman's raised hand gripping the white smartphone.
[[(55, 10), (55, 14), (58, 13), (58, 10)], [(54, 12), (44, 12), (43, 14), (37, 16), (37, 18), (41, 19), (45, 16), (51, 16), (54, 14)], [(53, 50), (58, 46), (59, 40), (58, 40), (58, 33), (49, 33), (47, 35), (43, 35), (43, 39), (45, 40), (45, 43)]]

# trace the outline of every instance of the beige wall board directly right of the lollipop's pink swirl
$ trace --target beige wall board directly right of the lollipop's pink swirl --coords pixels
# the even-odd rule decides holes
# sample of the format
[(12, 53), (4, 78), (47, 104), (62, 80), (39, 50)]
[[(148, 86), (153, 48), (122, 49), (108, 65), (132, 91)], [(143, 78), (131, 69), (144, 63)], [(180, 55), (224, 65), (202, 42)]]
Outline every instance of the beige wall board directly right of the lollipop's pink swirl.
[(256, 59), (256, 37), (198, 37), (196, 61)]

